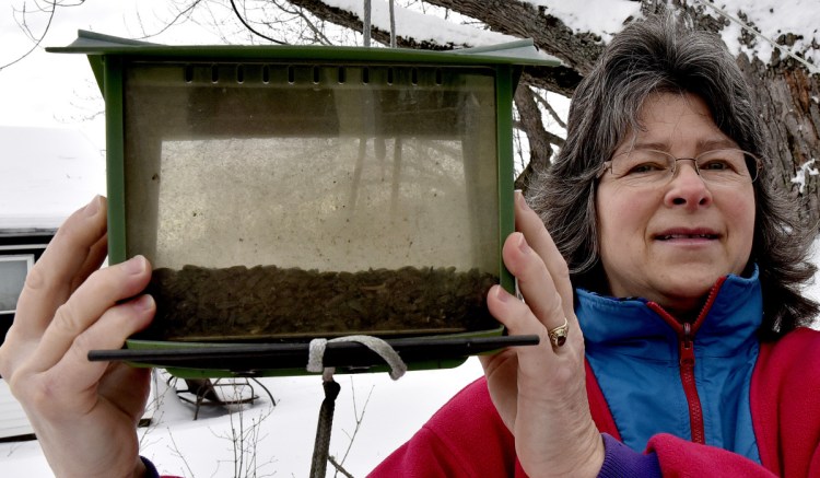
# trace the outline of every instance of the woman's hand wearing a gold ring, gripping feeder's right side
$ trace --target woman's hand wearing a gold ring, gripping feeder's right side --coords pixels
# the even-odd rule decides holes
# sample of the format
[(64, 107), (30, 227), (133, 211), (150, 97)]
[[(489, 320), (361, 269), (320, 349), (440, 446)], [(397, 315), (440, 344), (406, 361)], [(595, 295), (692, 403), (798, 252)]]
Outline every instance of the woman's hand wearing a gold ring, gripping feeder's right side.
[[(516, 193), (516, 230), (504, 243), (504, 264), (518, 279), (526, 303), (495, 285), (490, 312), (511, 335), (535, 334), (536, 347), (481, 357), (490, 395), (529, 476), (597, 476), (604, 443), (589, 413), (584, 338), (573, 311), (566, 263), (540, 218)], [(548, 329), (570, 326), (566, 342), (553, 347)]]

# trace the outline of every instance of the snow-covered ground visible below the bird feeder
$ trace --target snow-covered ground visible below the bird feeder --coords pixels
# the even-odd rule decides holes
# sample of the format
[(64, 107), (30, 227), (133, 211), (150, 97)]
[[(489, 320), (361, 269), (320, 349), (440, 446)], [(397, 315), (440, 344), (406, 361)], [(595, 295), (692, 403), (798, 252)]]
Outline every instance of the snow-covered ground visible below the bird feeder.
[[(353, 476), (365, 476), (412, 436), (450, 396), (480, 375), (481, 365), (476, 358), (455, 369), (409, 372), (396, 382), (386, 373), (336, 375), (341, 393), (336, 403), (330, 455), (337, 462), (344, 459), (343, 467)], [(276, 407), (271, 407), (265, 390), (251, 382), (260, 397), (253, 406), (234, 406), (232, 412), (225, 408), (202, 407), (197, 420), (194, 420), (195, 407), (179, 400), (166, 387), (165, 378), (167, 375), (163, 373), (156, 381), (157, 408), (153, 411), (153, 423), (140, 429), (141, 453), (156, 464), (161, 473), (187, 478), (308, 476), (324, 398), (320, 376), (260, 378), (273, 395)], [(248, 475), (234, 474), (232, 430), (238, 432), (241, 423), (246, 431), (255, 423), (258, 427), (255, 446), (250, 446), (251, 439), (246, 440), (250, 446), (246, 463), (256, 458), (256, 466)], [(327, 476), (335, 476), (333, 471), (328, 465)], [(0, 476), (39, 478), (52, 475), (38, 443), (28, 441), (0, 443)]]

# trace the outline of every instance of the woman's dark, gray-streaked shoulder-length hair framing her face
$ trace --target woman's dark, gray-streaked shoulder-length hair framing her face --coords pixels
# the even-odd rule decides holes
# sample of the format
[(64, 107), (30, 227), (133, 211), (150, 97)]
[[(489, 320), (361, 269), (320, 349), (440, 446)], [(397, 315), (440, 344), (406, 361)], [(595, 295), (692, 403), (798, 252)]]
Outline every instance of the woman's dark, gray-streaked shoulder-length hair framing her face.
[(528, 203), (539, 212), (566, 259), (573, 284), (609, 291), (599, 260), (597, 176), (629, 131), (641, 129), (641, 107), (658, 92), (699, 95), (717, 127), (740, 149), (763, 160), (754, 183), (750, 257), (758, 264), (763, 289), (762, 336), (773, 339), (808, 325), (818, 304), (800, 290), (817, 269), (807, 260), (813, 236), (801, 226), (766, 167), (771, 151), (751, 91), (717, 35), (698, 31), (688, 19), (669, 13), (635, 21), (616, 35), (575, 90), (566, 142), (558, 159), (528, 184)]

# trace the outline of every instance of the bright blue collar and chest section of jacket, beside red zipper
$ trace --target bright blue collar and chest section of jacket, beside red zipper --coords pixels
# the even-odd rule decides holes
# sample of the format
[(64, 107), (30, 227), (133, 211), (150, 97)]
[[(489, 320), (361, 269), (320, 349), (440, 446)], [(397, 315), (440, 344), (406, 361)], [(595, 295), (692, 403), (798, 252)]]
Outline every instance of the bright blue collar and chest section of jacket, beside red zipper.
[[(750, 278), (728, 276), (715, 292), (701, 314), (705, 318), (691, 334), (705, 443), (760, 463), (749, 408), (763, 316), (757, 267)], [(660, 432), (692, 439), (681, 336), (653, 307), (657, 304), (643, 299), (576, 290), (575, 313), (587, 360), (621, 439), (637, 452)], [(691, 388), (690, 382), (690, 393)]]

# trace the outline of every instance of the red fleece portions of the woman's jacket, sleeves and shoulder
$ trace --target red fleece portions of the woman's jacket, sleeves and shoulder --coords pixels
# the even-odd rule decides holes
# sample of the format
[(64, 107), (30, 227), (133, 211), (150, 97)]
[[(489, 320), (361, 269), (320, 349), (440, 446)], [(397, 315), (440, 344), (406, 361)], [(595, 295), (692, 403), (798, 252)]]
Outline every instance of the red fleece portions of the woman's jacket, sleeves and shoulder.
[[(587, 395), (598, 429), (614, 424), (587, 366)], [(751, 383), (751, 412), (762, 466), (735, 453), (670, 434), (653, 436), (664, 477), (820, 477), (820, 333), (798, 329), (762, 343)], [(484, 378), (453, 397), (371, 477), (524, 477), (515, 439), (501, 421)]]

